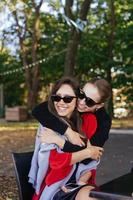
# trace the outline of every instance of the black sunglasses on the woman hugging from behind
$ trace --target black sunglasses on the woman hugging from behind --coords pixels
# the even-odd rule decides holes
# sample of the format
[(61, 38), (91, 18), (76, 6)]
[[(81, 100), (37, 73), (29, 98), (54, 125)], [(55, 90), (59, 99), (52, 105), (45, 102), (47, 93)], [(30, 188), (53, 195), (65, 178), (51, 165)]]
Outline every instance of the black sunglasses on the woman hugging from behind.
[(99, 103), (96, 103), (93, 99), (91, 99), (90, 97), (87, 97), (86, 94), (82, 91), (79, 90), (79, 94), (78, 94), (78, 98), (79, 99), (85, 99), (85, 103), (88, 107), (92, 107), (94, 105), (97, 105)]

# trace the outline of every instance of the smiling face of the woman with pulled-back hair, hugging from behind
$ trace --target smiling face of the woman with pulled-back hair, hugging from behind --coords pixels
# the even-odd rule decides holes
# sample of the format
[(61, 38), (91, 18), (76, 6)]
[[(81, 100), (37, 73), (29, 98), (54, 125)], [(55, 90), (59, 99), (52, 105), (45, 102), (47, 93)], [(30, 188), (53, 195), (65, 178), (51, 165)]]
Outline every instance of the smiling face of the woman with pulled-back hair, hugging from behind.
[(95, 112), (96, 109), (101, 108), (104, 104), (100, 103), (101, 97), (98, 91), (98, 88), (92, 84), (92, 83), (87, 83), (83, 87), (83, 92), (86, 95), (86, 97), (91, 98), (96, 105), (93, 105), (91, 107), (86, 105), (85, 98), (84, 99), (78, 99), (78, 111), (79, 112)]

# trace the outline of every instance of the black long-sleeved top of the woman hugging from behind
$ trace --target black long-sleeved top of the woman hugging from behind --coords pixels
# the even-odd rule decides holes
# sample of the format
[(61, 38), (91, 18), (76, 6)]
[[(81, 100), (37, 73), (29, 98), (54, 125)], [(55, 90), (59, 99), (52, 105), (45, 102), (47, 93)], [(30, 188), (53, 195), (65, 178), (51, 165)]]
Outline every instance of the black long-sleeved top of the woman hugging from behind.
[[(97, 119), (97, 130), (96, 133), (90, 139), (92, 145), (102, 147), (105, 141), (109, 137), (109, 130), (111, 128), (111, 119), (109, 115), (106, 113), (104, 108), (100, 108), (95, 113)], [(57, 131), (61, 135), (65, 133), (68, 128), (68, 125), (61, 121), (58, 117), (54, 116), (48, 110), (48, 103), (43, 102), (36, 106), (33, 111), (32, 115), (45, 127), (50, 128), (54, 131)], [(74, 145), (69, 141), (65, 142), (63, 147), (64, 152), (77, 152), (85, 147), (80, 147), (78, 145)], [(85, 159), (83, 162), (88, 163), (91, 159)]]

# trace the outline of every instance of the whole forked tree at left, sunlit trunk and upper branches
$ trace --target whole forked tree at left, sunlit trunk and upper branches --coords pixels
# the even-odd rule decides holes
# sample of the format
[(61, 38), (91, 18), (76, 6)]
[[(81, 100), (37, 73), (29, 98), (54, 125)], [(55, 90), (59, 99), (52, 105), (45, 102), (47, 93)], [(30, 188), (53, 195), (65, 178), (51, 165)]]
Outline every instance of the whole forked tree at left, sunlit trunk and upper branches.
[[(39, 63), (38, 47), (40, 40), (40, 8), (43, 0), (40, 1), (6, 1), (14, 24), (12, 33), (18, 37), (20, 57), (25, 70), (25, 82), (28, 90), (27, 106), (31, 110), (37, 100), (39, 88)], [(31, 55), (31, 56), (29, 56)], [(29, 62), (34, 63), (34, 69), (29, 68)]]

